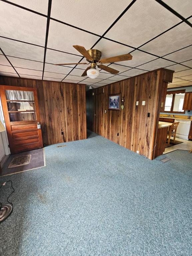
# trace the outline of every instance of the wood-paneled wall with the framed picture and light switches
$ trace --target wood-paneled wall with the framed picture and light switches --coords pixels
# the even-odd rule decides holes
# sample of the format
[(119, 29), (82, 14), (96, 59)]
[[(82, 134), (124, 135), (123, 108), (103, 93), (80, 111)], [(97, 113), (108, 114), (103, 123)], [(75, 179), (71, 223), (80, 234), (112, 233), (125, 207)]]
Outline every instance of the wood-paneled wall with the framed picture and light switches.
[[(165, 101), (167, 82), (172, 77), (173, 71), (159, 69), (99, 87), (92, 90), (94, 95), (87, 93), (87, 98), (91, 97), (89, 101), (95, 102), (93, 131), (153, 159), (159, 113), (164, 107), (161, 103)], [(124, 109), (108, 110), (108, 95), (118, 93), (124, 97)]]

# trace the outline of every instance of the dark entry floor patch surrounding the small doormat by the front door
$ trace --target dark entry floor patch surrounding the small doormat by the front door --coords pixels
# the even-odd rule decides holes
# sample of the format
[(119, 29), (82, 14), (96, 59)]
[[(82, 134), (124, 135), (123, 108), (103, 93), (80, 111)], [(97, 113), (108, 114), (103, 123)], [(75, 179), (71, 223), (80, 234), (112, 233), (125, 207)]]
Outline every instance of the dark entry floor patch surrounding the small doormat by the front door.
[[(26, 156), (26, 154), (31, 155), (31, 161), (29, 164), (21, 165), (21, 166), (17, 166), (17, 167), (13, 167), (13, 168), (8, 168), (8, 166), (10, 165), (13, 158), (18, 157), (18, 156)], [(0, 176), (13, 174), (13, 173), (17, 173), (17, 172), (23, 172), (23, 171), (43, 167), (43, 166), (45, 166), (44, 149), (43, 148), (35, 149), (35, 150), (28, 151), (27, 153), (23, 152), (23, 153), (10, 155), (7, 162), (3, 166), (2, 171), (0, 172)]]

